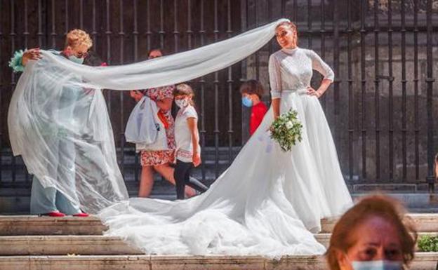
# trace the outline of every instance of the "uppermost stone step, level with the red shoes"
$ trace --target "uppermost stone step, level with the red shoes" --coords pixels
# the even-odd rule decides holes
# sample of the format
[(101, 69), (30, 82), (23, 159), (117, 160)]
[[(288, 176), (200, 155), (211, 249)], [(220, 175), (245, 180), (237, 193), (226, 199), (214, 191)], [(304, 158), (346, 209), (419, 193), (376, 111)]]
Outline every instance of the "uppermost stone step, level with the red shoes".
[[(408, 214), (418, 231), (438, 231), (438, 214)], [(321, 220), (321, 233), (333, 230), (336, 218)], [(105, 226), (98, 217), (38, 217), (36, 215), (0, 215), (0, 236), (25, 235), (102, 235)]]

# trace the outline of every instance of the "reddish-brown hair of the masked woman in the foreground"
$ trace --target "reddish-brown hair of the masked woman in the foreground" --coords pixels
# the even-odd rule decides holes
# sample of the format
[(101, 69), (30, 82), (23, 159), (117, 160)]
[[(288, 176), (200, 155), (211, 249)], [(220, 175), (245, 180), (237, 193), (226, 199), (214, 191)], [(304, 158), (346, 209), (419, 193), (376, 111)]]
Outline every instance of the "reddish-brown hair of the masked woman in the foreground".
[[(413, 222), (406, 218), (405, 214), (406, 210), (399, 201), (388, 196), (373, 195), (363, 198), (340, 217), (333, 229), (326, 252), (328, 269), (341, 269), (339, 255), (347, 254), (350, 248), (356, 245), (357, 237), (360, 236), (357, 229), (375, 217), (385, 220), (398, 232), (402, 263), (408, 265), (414, 257), (417, 233)], [(381, 234), (385, 234), (385, 231)]]

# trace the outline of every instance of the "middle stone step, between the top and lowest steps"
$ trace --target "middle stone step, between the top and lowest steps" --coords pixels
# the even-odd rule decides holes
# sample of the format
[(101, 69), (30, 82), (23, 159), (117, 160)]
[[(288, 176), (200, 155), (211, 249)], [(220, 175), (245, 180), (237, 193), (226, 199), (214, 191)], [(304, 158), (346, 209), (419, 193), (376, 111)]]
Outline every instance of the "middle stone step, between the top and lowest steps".
[[(419, 236), (438, 233), (420, 233)], [(328, 247), (331, 234), (315, 234)], [(18, 255), (142, 255), (117, 236), (0, 236), (0, 256)]]

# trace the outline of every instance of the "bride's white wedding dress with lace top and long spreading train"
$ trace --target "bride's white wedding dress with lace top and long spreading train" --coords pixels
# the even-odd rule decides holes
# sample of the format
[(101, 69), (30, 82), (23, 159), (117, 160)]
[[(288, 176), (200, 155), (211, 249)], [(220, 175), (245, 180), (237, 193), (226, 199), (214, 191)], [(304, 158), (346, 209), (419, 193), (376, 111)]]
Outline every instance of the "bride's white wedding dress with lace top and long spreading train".
[(281, 112), (296, 109), (303, 141), (284, 152), (267, 131), (272, 108), (223, 175), (185, 201), (132, 198), (100, 212), (105, 233), (147, 254), (321, 254), (312, 232), (323, 217), (340, 215), (351, 196), (317, 97), (306, 94), (312, 69), (333, 72), (312, 50), (280, 50), (270, 58), (273, 98)]

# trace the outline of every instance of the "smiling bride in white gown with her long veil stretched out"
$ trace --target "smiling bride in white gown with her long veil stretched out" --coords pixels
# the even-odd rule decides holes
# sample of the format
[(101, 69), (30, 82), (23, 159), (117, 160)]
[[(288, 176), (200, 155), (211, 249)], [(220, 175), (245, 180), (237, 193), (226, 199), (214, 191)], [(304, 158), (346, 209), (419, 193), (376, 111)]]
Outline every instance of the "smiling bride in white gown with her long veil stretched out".
[[(274, 32), (282, 49), (270, 58), (272, 107), (230, 168), (204, 194), (185, 201), (131, 198), (116, 203), (126, 198), (126, 189), (100, 88), (131, 90), (190, 81), (246, 58)], [(340, 215), (352, 201), (317, 99), (333, 81), (333, 72), (312, 50), (296, 46), (296, 34), (295, 25), (281, 19), (208, 46), (114, 67), (85, 67), (41, 51), (43, 58), (26, 65), (11, 99), (13, 154), (20, 154), (29, 172), (47, 186), (59, 188), (72, 201), (79, 198), (75, 202), (88, 212), (99, 211), (109, 228), (105, 234), (120, 236), (147, 254), (320, 254), (324, 246), (312, 232), (321, 229), (322, 217)], [(325, 78), (318, 90), (309, 88), (312, 69)], [(78, 86), (84, 94), (72, 106), (80, 117), (68, 125), (57, 121), (63, 109), (58, 97)], [(275, 117), (291, 108), (303, 123), (303, 140), (284, 152), (268, 130)], [(57, 152), (47, 147), (44, 134), (51, 130), (72, 131), (56, 134), (77, 148), (79, 196), (47, 170)]]

